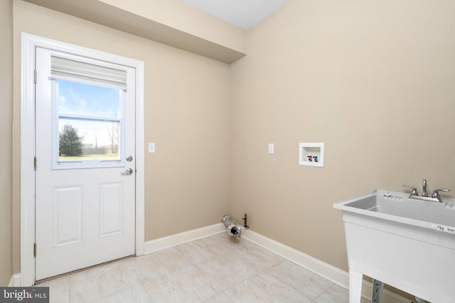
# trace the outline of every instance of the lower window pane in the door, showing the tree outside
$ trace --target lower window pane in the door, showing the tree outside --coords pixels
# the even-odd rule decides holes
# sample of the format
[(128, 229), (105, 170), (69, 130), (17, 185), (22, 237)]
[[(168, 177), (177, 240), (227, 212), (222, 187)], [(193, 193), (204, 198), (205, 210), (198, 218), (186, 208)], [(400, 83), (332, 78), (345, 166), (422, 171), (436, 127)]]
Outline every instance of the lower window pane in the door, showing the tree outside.
[(58, 160), (119, 160), (120, 123), (59, 119)]

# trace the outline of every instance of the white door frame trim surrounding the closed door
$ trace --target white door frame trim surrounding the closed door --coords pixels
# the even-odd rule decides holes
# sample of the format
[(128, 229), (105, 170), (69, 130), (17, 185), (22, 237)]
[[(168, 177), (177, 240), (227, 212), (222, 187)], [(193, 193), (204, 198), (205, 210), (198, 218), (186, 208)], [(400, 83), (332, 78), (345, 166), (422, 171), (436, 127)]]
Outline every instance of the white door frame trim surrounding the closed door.
[[(35, 283), (35, 48), (48, 48), (136, 69), (136, 255), (144, 255), (144, 62), (21, 33), (21, 286)], [(39, 165), (39, 159), (38, 159)], [(39, 247), (38, 253), (39, 253)]]

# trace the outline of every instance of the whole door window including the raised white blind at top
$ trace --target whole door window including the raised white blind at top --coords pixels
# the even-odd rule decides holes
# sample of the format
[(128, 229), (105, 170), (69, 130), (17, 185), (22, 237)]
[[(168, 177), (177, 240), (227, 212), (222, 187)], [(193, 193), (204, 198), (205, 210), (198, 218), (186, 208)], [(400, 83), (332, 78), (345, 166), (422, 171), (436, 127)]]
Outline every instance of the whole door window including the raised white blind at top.
[(124, 166), (126, 72), (60, 57), (51, 62), (53, 169)]

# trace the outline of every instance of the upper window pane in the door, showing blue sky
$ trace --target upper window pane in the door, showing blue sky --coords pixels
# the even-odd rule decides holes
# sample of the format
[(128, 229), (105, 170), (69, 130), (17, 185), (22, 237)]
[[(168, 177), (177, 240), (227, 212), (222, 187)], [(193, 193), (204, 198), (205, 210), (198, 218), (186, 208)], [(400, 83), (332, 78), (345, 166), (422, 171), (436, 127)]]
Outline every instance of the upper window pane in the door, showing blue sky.
[(57, 109), (61, 115), (121, 118), (122, 89), (100, 87), (61, 79), (58, 82)]

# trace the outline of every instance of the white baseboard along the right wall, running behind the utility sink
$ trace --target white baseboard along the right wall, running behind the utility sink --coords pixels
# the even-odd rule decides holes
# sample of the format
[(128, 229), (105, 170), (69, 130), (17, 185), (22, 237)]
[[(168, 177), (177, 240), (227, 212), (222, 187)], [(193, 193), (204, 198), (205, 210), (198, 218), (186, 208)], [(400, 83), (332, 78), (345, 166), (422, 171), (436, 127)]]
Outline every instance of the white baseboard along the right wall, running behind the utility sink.
[[(299, 250), (295, 250), (289, 246), (285, 246), (282, 243), (272, 240), (262, 236), (259, 233), (256, 233), (252, 230), (242, 230), (242, 237), (256, 243), (267, 250), (281, 255), (283, 258), (296, 263), (311, 272), (315, 272), (317, 275), (326, 278), (327, 280), (335, 283), (336, 285), (343, 287), (344, 289), (349, 289), (349, 274), (348, 272), (334, 267), (328, 263), (325, 263), (321, 260), (311, 257), (311, 255), (306, 255)], [(371, 302), (371, 297), (373, 294), (373, 285), (368, 281), (363, 281), (362, 287), (362, 297)], [(405, 297), (390, 292), (389, 290), (384, 290), (382, 292), (381, 303), (411, 303), (410, 300)]]

